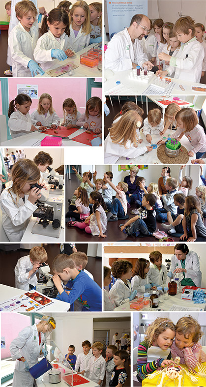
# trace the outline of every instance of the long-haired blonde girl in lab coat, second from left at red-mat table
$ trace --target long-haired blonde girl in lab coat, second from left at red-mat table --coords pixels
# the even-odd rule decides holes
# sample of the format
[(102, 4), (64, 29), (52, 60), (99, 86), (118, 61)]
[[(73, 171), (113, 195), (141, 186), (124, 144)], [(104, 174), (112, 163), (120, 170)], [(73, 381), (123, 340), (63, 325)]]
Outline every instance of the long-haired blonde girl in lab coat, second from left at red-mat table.
[(51, 129), (59, 126), (60, 119), (53, 109), (51, 95), (47, 93), (40, 95), (38, 108), (31, 113), (31, 119), (36, 126), (47, 126)]

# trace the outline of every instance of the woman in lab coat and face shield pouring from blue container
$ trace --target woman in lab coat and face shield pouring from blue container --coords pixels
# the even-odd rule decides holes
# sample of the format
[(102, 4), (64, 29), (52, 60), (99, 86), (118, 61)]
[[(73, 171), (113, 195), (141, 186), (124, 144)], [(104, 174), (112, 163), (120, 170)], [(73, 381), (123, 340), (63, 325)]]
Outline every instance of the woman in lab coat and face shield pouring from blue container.
[(13, 387), (33, 387), (34, 379), (29, 368), (38, 362), (41, 355), (47, 356), (43, 348), (46, 337), (55, 329), (53, 317), (43, 316), (38, 324), (25, 327), (9, 347), (12, 360), (16, 360)]

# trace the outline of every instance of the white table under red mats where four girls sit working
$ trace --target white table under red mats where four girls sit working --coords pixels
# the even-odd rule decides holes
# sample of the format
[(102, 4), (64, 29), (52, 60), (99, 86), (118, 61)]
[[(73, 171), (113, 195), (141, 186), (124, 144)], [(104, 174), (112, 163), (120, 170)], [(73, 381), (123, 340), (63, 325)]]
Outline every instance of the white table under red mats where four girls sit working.
[[(76, 132), (72, 133), (69, 135), (69, 138), (72, 139), (79, 134), (82, 134), (85, 132), (86, 129), (78, 129)], [(45, 137), (51, 136), (50, 134), (47, 133), (41, 133), (38, 132), (37, 130), (35, 132), (31, 132), (28, 134), (25, 134), (24, 136), (16, 137), (11, 140), (3, 141), (1, 143), (2, 146), (6, 147), (40, 147), (40, 141), (42, 141)], [(36, 144), (37, 141), (39, 144)], [(72, 141), (72, 140), (62, 140), (62, 146), (64, 147), (90, 147), (89, 145), (78, 143), (77, 141)]]

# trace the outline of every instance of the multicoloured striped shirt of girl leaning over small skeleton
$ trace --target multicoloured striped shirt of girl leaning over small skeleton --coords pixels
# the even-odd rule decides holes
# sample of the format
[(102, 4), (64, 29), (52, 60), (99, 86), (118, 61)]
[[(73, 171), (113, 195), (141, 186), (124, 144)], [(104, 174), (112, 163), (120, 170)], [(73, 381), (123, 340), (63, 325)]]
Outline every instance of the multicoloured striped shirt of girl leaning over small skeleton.
[[(137, 374), (143, 380), (146, 378), (147, 374), (151, 374), (156, 371), (158, 367), (161, 366), (163, 358), (159, 358), (150, 362), (147, 362), (147, 351), (148, 351), (148, 343), (146, 341), (142, 341), (138, 347), (137, 354)], [(171, 352), (167, 357), (171, 359)]]

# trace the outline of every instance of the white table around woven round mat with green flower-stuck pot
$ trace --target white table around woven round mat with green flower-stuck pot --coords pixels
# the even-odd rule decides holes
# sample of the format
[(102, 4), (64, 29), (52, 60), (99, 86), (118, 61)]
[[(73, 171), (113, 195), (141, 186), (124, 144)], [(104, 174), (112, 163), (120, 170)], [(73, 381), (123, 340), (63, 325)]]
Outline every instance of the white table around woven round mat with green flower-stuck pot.
[[(175, 134), (175, 132), (176, 132), (175, 130), (168, 129), (164, 133), (164, 136), (152, 134), (152, 144), (156, 144), (157, 141), (161, 140), (163, 137), (168, 137), (169, 134), (171, 134), (171, 137), (172, 137), (172, 135)], [(138, 147), (141, 147), (143, 145), (148, 147), (149, 143), (147, 142), (146, 137), (141, 130), (140, 130), (140, 138), (143, 140), (143, 142), (142, 142), (142, 144), (139, 144)], [(183, 136), (181, 138), (181, 145), (183, 147), (185, 147), (188, 151), (193, 149), (193, 146), (190, 144), (190, 142), (186, 136)], [(158, 147), (158, 145), (157, 145), (157, 147)], [(193, 157), (189, 157), (188, 163), (191, 163), (191, 160), (193, 160), (193, 159), (196, 159), (195, 154)], [(174, 160), (175, 159), (173, 157), (171, 157), (171, 164), (174, 163)], [(129, 164), (136, 164), (137, 162), (138, 162), (138, 164), (144, 164), (144, 165), (146, 165), (146, 164), (161, 164), (161, 161), (157, 157), (157, 148), (152, 149), (148, 153), (146, 152), (144, 154), (141, 154), (138, 157), (130, 158), (129, 160), (126, 160), (126, 157), (120, 157), (116, 164), (128, 164), (128, 163)]]

